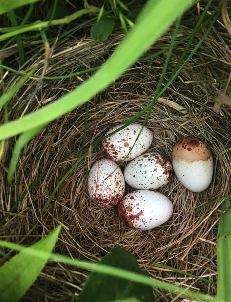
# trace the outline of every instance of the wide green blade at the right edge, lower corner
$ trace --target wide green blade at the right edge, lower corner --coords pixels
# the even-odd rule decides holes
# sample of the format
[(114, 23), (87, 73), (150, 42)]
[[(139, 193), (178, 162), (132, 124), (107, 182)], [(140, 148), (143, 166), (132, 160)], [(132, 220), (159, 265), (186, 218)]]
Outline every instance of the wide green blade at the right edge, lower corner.
[(218, 227), (217, 266), (218, 286), (217, 298), (223, 302), (231, 301), (231, 200), (224, 201), (221, 206), (221, 218)]

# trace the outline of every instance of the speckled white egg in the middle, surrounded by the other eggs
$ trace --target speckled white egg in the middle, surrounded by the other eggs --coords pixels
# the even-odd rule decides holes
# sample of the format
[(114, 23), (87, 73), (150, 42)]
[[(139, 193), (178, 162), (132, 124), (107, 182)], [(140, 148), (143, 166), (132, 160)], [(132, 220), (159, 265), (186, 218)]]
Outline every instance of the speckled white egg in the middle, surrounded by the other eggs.
[(172, 177), (171, 162), (162, 154), (149, 152), (130, 161), (124, 170), (124, 179), (135, 189), (158, 189)]

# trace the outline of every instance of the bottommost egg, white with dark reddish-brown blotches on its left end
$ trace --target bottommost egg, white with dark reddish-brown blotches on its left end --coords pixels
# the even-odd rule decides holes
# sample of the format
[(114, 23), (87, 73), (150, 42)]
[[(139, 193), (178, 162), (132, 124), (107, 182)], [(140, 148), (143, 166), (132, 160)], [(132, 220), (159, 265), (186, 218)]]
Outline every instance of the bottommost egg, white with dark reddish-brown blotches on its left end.
[(121, 221), (136, 230), (151, 230), (160, 226), (173, 213), (172, 202), (163, 194), (137, 190), (127, 194), (119, 203)]

